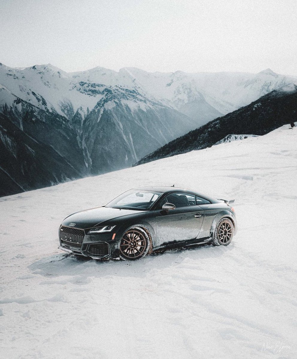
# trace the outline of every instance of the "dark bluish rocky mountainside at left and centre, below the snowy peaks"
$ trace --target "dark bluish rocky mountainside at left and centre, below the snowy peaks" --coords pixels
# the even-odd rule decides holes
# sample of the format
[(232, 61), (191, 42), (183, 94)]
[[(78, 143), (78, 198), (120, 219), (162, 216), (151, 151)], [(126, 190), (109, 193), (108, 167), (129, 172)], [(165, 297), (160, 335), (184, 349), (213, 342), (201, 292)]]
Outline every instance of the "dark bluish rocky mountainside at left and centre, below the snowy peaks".
[[(50, 91), (41, 87), (43, 92), (40, 83), (34, 91), (20, 74), (13, 76), (25, 99), (0, 87), (2, 196), (129, 167), (195, 128), (191, 118), (136, 89), (80, 81), (68, 89), (74, 95), (66, 98), (60, 93), (59, 75), (51, 76), (52, 83), (45, 81)], [(19, 93), (15, 85), (10, 83)], [(75, 103), (77, 93), (82, 98)]]

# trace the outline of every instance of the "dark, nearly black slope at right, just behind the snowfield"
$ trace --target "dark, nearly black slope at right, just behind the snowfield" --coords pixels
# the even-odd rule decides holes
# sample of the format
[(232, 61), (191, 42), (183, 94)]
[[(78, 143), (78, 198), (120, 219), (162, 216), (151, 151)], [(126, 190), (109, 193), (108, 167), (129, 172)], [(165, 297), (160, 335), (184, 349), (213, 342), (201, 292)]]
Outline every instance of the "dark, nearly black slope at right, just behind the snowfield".
[(296, 121), (297, 86), (292, 84), (280, 90), (273, 90), (245, 107), (178, 137), (152, 154), (145, 156), (136, 164), (241, 140), (250, 136), (265, 135), (280, 126)]

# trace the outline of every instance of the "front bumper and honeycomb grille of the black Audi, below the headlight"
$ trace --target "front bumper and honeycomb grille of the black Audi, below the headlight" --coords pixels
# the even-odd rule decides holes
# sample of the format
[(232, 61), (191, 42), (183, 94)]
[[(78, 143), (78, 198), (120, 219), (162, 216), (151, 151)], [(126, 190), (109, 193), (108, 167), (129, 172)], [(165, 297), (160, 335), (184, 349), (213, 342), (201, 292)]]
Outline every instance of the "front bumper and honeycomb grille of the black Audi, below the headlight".
[(86, 234), (88, 230), (61, 226), (59, 249), (91, 258), (119, 257), (119, 243), (112, 240), (112, 233)]

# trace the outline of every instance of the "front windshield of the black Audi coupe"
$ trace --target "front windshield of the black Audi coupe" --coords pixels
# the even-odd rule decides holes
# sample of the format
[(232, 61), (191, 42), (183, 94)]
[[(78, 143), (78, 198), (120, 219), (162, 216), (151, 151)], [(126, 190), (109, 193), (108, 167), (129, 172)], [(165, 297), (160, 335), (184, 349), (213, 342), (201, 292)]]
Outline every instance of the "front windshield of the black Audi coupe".
[(152, 208), (162, 194), (157, 191), (130, 190), (116, 197), (105, 207), (146, 211)]

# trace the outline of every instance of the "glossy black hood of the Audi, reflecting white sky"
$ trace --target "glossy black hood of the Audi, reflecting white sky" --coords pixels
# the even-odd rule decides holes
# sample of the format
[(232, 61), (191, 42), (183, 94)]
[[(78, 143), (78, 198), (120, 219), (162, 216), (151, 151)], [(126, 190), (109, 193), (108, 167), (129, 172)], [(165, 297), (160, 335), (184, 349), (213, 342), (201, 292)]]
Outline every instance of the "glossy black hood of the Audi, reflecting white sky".
[(123, 217), (129, 214), (136, 214), (139, 212), (140, 211), (137, 210), (108, 207), (92, 208), (71, 214), (62, 221), (62, 225), (69, 226), (71, 223), (70, 227), (87, 229), (96, 227), (97, 225), (100, 225), (100, 223), (110, 219)]

